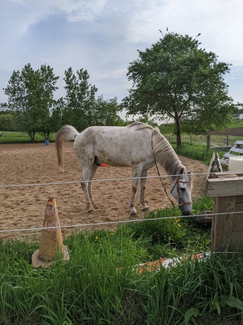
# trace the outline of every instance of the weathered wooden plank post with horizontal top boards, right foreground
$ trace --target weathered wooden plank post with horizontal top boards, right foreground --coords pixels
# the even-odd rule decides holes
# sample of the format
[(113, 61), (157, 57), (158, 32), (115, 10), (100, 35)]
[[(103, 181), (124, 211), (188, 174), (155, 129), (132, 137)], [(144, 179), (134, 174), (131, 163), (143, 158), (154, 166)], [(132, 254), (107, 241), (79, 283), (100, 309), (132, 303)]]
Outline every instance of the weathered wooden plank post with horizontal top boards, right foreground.
[(216, 172), (207, 179), (205, 195), (214, 197), (212, 212), (217, 213), (212, 216), (211, 251), (243, 247), (243, 172)]

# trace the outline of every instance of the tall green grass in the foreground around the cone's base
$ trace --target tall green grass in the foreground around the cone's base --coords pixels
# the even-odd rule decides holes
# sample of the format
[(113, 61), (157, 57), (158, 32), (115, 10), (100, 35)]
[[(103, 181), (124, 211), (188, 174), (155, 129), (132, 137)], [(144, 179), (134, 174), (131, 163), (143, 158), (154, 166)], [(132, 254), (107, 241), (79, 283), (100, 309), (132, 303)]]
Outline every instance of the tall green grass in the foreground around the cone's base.
[[(193, 213), (211, 207), (199, 197)], [(241, 324), (243, 251), (191, 259), (209, 251), (210, 226), (180, 218), (177, 208), (146, 218), (73, 232), (64, 240), (69, 262), (47, 269), (31, 266), (38, 241), (0, 241), (0, 324)], [(181, 256), (188, 258), (171, 268), (137, 272), (141, 263)]]

